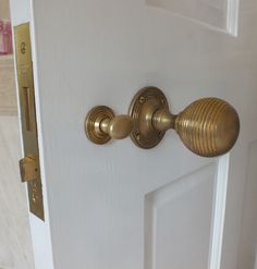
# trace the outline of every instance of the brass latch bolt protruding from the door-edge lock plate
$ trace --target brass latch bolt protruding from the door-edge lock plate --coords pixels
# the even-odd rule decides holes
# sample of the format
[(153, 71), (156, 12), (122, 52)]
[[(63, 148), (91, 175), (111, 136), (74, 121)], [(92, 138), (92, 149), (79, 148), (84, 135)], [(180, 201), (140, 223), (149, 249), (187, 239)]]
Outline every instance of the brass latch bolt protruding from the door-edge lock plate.
[(39, 163), (35, 156), (27, 156), (20, 160), (22, 182), (34, 181), (39, 176)]

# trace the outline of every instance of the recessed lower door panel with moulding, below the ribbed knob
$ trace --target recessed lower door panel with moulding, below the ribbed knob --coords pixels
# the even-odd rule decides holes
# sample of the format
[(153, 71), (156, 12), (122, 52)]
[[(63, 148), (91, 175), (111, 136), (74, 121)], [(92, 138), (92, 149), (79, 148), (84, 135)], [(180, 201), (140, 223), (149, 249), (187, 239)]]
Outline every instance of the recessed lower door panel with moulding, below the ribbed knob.
[(220, 268), (229, 161), (220, 157), (145, 196), (145, 269)]

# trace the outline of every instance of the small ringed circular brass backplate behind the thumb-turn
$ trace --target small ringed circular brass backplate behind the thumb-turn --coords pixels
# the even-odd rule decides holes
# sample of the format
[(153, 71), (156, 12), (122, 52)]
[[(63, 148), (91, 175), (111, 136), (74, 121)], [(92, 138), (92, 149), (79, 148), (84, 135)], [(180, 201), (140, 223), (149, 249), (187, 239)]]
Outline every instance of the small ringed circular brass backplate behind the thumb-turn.
[(100, 130), (100, 123), (105, 119), (112, 119), (114, 117), (114, 112), (112, 109), (106, 107), (106, 106), (98, 106), (93, 108), (86, 117), (85, 120), (85, 133), (89, 140), (91, 140), (95, 144), (106, 144), (108, 143), (111, 137), (101, 132)]

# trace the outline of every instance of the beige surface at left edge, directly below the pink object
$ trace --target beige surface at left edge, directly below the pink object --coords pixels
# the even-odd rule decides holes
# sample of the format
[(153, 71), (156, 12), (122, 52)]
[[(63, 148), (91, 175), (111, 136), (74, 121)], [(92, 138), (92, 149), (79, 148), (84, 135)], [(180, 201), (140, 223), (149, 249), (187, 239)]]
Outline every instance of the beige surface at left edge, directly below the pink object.
[(0, 57), (0, 114), (17, 114), (12, 56)]

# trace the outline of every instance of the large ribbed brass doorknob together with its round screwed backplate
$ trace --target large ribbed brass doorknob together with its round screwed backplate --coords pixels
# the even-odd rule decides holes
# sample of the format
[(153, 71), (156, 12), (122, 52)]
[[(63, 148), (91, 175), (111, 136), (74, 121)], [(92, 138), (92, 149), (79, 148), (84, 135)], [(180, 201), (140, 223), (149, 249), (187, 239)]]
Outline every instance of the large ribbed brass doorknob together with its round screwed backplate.
[(131, 137), (142, 148), (155, 147), (166, 131), (174, 129), (189, 150), (203, 157), (217, 157), (234, 146), (240, 133), (238, 114), (224, 100), (203, 98), (174, 115), (163, 93), (156, 87), (138, 91), (130, 115), (134, 120)]

